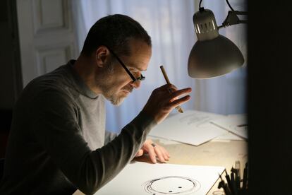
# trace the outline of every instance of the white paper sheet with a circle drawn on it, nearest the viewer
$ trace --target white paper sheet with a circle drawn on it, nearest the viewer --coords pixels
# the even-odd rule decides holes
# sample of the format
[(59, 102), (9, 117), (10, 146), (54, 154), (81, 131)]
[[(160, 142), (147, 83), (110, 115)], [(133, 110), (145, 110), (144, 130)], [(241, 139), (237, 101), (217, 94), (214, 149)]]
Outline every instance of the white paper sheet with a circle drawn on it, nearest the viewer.
[(127, 165), (96, 195), (207, 194), (224, 167), (149, 164)]

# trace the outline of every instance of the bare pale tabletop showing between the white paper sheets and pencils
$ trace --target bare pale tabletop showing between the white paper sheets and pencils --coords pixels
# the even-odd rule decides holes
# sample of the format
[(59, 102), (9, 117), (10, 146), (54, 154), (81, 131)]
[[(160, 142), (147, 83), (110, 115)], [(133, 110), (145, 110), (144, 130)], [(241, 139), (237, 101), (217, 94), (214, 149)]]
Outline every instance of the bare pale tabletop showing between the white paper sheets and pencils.
[[(163, 138), (152, 138), (155, 143), (164, 146), (169, 151), (171, 158), (169, 163), (180, 165), (212, 165), (226, 167), (230, 173), (231, 167), (235, 166), (235, 161), (241, 161), (241, 175), (243, 167), (248, 161), (248, 142), (247, 141), (209, 141), (200, 146), (193, 146), (175, 141), (167, 141)], [(138, 161), (149, 160), (145, 157), (137, 158)], [(217, 191), (219, 179), (214, 184), (207, 195), (213, 195)], [(80, 195), (82, 192), (75, 191), (73, 195)]]

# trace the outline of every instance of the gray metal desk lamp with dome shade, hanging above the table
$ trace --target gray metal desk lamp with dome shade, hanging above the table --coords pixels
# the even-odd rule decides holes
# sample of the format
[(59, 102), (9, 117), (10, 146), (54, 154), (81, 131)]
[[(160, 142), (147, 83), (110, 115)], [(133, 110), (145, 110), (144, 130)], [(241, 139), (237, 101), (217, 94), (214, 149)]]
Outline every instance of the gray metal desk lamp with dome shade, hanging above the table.
[(243, 54), (231, 40), (219, 35), (219, 28), (247, 23), (247, 20), (240, 20), (237, 16), (247, 15), (247, 12), (234, 11), (226, 0), (231, 11), (224, 23), (218, 27), (214, 13), (201, 7), (201, 3), (202, 0), (200, 0), (199, 11), (193, 16), (197, 42), (188, 57), (188, 75), (193, 78), (212, 78), (229, 73), (243, 65)]

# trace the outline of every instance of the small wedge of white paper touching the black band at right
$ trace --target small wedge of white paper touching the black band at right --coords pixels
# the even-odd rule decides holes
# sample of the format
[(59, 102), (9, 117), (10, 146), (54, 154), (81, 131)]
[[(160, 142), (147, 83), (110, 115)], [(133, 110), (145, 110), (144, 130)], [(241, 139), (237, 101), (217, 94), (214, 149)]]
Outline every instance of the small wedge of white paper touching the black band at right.
[(233, 114), (221, 119), (214, 119), (212, 124), (220, 126), (233, 134), (248, 138), (248, 122), (246, 114)]

